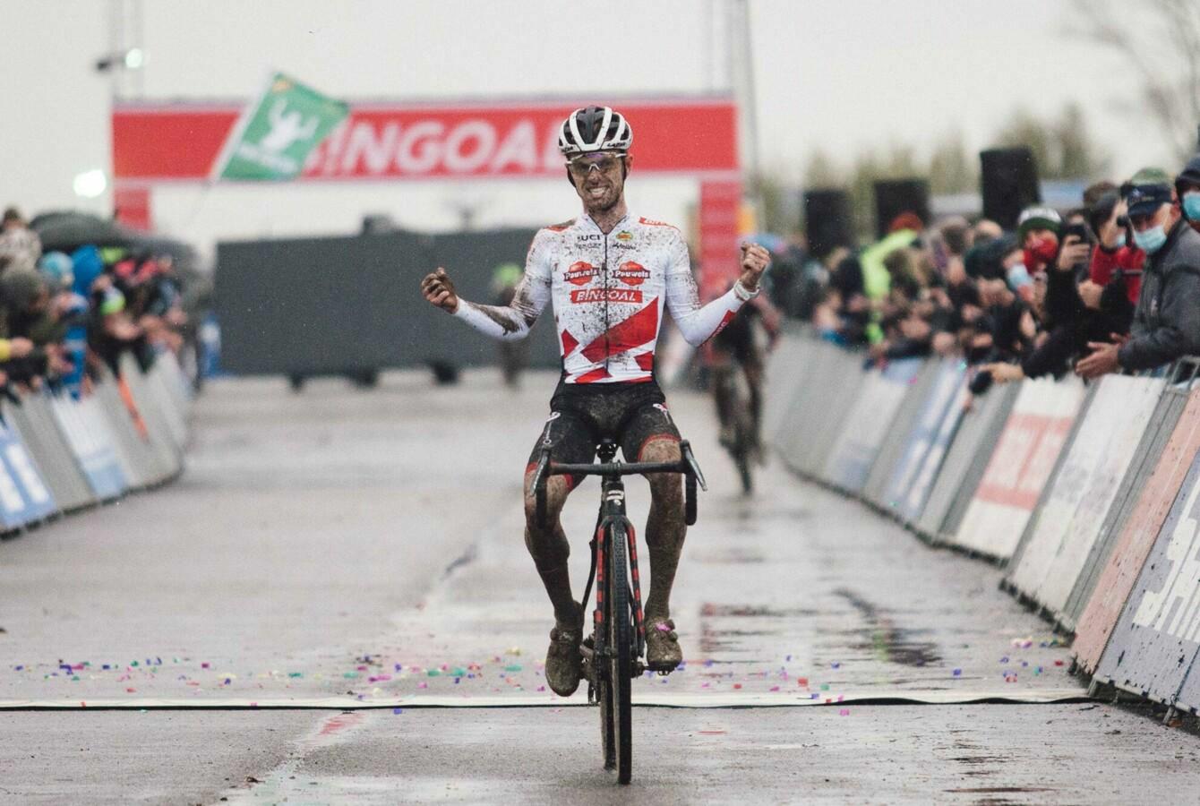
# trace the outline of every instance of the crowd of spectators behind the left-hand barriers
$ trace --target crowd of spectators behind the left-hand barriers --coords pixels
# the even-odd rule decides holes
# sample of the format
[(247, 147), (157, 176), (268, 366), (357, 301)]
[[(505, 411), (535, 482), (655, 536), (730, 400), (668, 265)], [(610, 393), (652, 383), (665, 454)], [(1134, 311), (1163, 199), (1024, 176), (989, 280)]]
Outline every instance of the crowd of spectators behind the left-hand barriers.
[(148, 368), (187, 323), (167, 254), (85, 245), (43, 252), (16, 207), (0, 231), (0, 387), (80, 395), (130, 351)]

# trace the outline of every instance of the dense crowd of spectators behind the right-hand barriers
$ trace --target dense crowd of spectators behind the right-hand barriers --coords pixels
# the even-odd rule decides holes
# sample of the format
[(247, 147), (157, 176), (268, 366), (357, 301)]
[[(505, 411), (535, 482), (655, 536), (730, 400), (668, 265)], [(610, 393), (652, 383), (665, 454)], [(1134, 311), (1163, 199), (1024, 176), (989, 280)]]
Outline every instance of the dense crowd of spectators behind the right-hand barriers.
[(902, 213), (856, 253), (782, 263), (776, 291), (822, 337), (877, 363), (961, 355), (977, 393), (1162, 367), (1200, 355), (1200, 156), (1174, 176), (1097, 182), (1064, 215), (1027, 207), (1015, 231)]

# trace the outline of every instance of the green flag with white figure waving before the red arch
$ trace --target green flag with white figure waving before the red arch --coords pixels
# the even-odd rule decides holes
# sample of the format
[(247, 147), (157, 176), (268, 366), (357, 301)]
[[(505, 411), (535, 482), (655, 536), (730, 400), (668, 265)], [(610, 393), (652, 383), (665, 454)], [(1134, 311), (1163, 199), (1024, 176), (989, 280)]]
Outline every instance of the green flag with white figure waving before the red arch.
[(212, 176), (295, 179), (312, 150), (348, 114), (346, 103), (276, 73), (229, 132), (212, 167)]

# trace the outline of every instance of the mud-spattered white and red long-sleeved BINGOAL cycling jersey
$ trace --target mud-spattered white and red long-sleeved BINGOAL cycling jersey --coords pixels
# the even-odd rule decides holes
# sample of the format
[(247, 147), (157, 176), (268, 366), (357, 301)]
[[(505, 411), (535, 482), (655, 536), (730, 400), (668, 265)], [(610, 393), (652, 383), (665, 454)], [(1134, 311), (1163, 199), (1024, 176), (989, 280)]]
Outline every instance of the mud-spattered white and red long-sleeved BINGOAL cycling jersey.
[(605, 235), (583, 215), (538, 230), (509, 306), (461, 301), (455, 315), (494, 338), (517, 339), (550, 301), (568, 384), (650, 380), (664, 308), (698, 345), (742, 307), (733, 290), (701, 307), (674, 227), (626, 215)]

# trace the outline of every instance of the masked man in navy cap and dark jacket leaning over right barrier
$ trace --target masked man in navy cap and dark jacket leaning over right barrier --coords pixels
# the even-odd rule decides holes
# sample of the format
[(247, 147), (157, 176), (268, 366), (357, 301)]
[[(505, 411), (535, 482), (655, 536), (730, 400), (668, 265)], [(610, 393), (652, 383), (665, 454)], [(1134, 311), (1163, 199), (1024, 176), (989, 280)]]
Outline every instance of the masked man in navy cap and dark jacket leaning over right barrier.
[(1151, 369), (1200, 353), (1200, 233), (1183, 218), (1170, 178), (1139, 170), (1121, 188), (1135, 245), (1146, 253), (1141, 291), (1128, 338), (1092, 342), (1075, 365), (1082, 378)]

